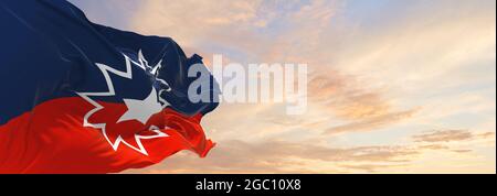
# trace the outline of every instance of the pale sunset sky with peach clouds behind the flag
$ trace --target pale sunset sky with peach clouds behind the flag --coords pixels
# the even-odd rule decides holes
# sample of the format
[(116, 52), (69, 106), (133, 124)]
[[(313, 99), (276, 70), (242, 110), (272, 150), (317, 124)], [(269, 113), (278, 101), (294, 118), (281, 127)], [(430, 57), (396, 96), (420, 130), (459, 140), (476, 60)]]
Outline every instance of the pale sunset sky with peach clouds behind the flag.
[(305, 63), (308, 110), (222, 104), (208, 157), (126, 173), (496, 173), (495, 0), (70, 0), (229, 62)]

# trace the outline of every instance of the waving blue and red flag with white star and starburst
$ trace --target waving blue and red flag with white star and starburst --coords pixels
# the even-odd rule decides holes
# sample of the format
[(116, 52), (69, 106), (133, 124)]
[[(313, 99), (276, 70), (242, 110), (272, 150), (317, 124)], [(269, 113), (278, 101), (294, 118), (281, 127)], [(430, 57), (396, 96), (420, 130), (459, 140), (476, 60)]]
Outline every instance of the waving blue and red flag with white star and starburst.
[(213, 146), (200, 120), (218, 105), (187, 95), (201, 57), (171, 39), (63, 0), (2, 0), (0, 26), (0, 173), (114, 173)]

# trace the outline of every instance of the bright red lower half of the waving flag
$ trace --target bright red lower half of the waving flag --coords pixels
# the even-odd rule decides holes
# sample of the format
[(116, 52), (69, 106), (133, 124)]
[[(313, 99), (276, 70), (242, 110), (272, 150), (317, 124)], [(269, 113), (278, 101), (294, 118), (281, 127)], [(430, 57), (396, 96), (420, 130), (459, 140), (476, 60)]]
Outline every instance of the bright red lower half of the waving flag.
[(60, 98), (36, 106), (0, 126), (0, 173), (116, 173), (161, 162), (190, 150), (205, 156), (214, 146), (205, 139), (202, 116), (163, 109), (142, 124), (117, 122), (121, 104)]

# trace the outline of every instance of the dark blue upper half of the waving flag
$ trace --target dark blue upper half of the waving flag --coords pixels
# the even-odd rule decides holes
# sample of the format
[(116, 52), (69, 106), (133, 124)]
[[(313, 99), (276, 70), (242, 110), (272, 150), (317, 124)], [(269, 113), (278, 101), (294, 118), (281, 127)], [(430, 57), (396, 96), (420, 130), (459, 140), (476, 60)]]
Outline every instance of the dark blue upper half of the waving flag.
[[(187, 57), (169, 37), (92, 23), (65, 0), (2, 0), (0, 26), (0, 124), (51, 99), (106, 92), (108, 81), (115, 95), (95, 100), (145, 99), (155, 88), (162, 89), (159, 97), (184, 115), (204, 115), (218, 106), (188, 99), (189, 85), (197, 79), (188, 77), (188, 68), (202, 64), (202, 58)], [(127, 58), (133, 78), (116, 74), (129, 72)], [(97, 64), (115, 73), (106, 78)], [(216, 96), (218, 84), (210, 77), (211, 96)]]

